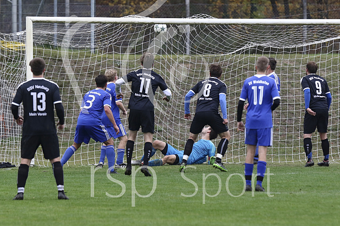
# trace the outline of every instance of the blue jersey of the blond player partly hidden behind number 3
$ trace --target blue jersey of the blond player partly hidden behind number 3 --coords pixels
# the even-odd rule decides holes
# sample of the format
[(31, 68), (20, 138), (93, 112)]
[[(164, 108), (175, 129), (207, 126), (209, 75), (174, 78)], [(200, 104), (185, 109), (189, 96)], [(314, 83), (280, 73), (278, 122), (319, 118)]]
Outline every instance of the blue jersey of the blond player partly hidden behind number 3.
[[(111, 101), (111, 111), (114, 117), (114, 121), (118, 125), (120, 122), (120, 113), (119, 113), (119, 108), (116, 104), (116, 102), (120, 101), (122, 102), (122, 99), (117, 99), (116, 94), (115, 94), (115, 84), (113, 82), (108, 82), (108, 87), (105, 90), (111, 95), (112, 101)], [(113, 126), (111, 121), (109, 120), (108, 116), (103, 112), (103, 117), (102, 117), (102, 123), (105, 127)]]

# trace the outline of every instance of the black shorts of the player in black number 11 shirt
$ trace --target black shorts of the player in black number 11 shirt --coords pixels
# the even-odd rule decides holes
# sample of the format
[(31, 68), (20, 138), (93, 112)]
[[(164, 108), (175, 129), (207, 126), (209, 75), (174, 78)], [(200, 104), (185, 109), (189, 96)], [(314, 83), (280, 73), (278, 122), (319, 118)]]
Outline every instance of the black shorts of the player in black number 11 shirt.
[(130, 109), (129, 130), (138, 131), (141, 126), (143, 133), (154, 133), (155, 113), (153, 111)]

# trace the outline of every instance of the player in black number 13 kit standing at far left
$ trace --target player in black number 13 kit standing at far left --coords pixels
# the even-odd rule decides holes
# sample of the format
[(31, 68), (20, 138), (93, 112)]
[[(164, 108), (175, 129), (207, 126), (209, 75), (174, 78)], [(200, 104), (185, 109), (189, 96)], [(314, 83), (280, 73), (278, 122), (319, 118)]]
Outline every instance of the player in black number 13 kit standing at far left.
[[(36, 57), (29, 62), (33, 78), (18, 86), (12, 102), (12, 114), (18, 125), (23, 125), (21, 139), (21, 161), (18, 170), (18, 194), (14, 200), (24, 199), (29, 163), (41, 145), (44, 157), (50, 159), (57, 182), (58, 199), (68, 200), (64, 194), (64, 175), (60, 164), (54, 109), (56, 108), (59, 129), (64, 128), (64, 107), (61, 103), (59, 87), (44, 78), (45, 61)], [(24, 118), (19, 116), (20, 103), (24, 106)]]

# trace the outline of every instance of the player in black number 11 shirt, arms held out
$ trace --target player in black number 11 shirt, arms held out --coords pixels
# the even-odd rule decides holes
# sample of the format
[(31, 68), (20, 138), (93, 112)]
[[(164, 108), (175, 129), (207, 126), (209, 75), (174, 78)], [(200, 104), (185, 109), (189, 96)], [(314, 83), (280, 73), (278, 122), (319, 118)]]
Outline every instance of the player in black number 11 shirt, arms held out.
[(131, 175), (131, 159), (134, 144), (137, 138), (137, 132), (142, 126), (142, 133), (144, 135), (144, 164), (142, 166), (142, 173), (145, 176), (151, 176), (147, 170), (147, 165), (152, 152), (152, 137), (155, 128), (155, 113), (153, 106), (153, 99), (157, 88), (161, 88), (166, 95), (163, 100), (169, 102), (171, 98), (171, 91), (161, 75), (158, 75), (151, 70), (153, 66), (154, 57), (149, 52), (144, 52), (141, 57), (142, 69), (130, 72), (126, 76), (119, 78), (115, 82), (115, 92), (117, 99), (121, 98), (120, 87), (122, 84), (132, 82), (131, 96), (129, 100), (129, 138), (126, 143), (126, 171), (125, 175)]

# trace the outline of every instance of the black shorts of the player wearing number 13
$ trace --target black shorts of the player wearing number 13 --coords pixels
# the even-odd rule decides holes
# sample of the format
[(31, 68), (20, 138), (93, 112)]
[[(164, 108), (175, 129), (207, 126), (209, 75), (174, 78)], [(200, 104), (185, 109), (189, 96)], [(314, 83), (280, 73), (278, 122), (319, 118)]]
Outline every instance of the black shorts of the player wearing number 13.
[(57, 134), (23, 135), (21, 139), (21, 157), (32, 159), (35, 151), (41, 145), (44, 158), (54, 159), (60, 156)]

